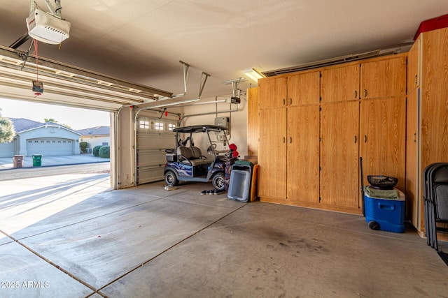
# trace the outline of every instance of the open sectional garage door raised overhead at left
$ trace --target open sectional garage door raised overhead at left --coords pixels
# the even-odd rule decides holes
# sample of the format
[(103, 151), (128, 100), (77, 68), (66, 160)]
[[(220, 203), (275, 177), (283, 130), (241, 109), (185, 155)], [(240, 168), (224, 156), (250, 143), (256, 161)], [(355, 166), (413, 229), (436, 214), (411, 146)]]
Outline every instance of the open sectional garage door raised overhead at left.
[[(138, 105), (171, 97), (172, 93), (127, 82), (57, 61), (29, 56), (0, 46), (0, 96), (71, 107), (116, 112), (123, 105)], [(32, 91), (32, 82), (43, 83), (43, 92)]]

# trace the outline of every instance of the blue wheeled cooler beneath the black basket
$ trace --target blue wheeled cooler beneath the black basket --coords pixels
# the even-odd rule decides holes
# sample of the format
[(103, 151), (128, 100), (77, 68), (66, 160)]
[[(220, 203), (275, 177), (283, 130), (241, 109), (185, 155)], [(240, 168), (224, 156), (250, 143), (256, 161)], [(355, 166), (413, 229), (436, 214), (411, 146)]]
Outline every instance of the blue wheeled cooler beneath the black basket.
[(365, 221), (372, 230), (405, 232), (405, 194), (398, 189), (365, 186), (364, 206)]

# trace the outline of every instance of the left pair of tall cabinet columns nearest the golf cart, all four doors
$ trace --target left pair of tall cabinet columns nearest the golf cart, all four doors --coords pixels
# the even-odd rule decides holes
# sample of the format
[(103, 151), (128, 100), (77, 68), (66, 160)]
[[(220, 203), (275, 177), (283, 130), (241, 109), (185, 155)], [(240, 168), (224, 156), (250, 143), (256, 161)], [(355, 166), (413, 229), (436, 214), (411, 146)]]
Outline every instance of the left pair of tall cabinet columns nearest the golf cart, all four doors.
[(262, 200), (317, 202), (319, 86), (318, 71), (258, 83)]

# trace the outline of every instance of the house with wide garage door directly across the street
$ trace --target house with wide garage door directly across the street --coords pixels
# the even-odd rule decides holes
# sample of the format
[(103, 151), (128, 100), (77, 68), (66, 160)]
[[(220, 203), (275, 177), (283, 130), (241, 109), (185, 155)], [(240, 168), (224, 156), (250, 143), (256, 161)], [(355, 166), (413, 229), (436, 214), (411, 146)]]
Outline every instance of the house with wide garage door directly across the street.
[(80, 133), (57, 123), (10, 118), (15, 129), (13, 142), (0, 144), (0, 157), (13, 155), (62, 156), (79, 154)]

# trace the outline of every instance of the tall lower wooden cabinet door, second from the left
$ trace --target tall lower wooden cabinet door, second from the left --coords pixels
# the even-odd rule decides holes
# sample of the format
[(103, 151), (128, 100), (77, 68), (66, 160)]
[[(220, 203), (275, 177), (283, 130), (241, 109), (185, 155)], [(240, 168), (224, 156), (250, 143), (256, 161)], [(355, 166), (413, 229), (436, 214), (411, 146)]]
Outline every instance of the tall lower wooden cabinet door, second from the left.
[(288, 107), (287, 198), (319, 199), (319, 106)]

